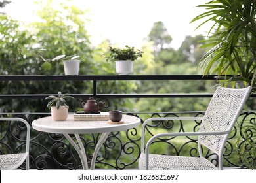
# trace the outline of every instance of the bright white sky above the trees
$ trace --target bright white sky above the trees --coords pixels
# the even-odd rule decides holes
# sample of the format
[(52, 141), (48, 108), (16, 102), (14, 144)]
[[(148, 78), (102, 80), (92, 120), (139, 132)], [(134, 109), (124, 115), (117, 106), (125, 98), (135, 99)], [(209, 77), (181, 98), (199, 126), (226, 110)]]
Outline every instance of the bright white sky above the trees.
[[(11, 0), (5, 12), (12, 17), (29, 22), (33, 16), (33, 0)], [(171, 45), (177, 49), (186, 35), (205, 34), (203, 28), (195, 31), (200, 22), (190, 24), (192, 18), (202, 13), (196, 8), (209, 0), (72, 0), (82, 10), (89, 10), (91, 42), (98, 44), (110, 39), (112, 44), (139, 47), (150, 33), (154, 22), (162, 21)], [(207, 30), (207, 27), (205, 27)]]

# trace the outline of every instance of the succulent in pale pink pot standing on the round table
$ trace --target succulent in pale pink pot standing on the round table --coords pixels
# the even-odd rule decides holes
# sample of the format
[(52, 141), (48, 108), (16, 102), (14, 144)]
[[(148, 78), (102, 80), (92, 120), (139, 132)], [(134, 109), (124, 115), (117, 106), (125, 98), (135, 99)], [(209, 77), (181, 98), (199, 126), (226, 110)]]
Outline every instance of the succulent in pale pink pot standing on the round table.
[[(51, 115), (54, 121), (64, 121), (68, 118), (68, 105), (66, 99), (74, 99), (68, 94), (58, 92), (57, 96), (48, 96), (45, 100), (51, 99), (47, 104), (47, 108), (51, 108)], [(56, 104), (56, 105), (55, 105)]]

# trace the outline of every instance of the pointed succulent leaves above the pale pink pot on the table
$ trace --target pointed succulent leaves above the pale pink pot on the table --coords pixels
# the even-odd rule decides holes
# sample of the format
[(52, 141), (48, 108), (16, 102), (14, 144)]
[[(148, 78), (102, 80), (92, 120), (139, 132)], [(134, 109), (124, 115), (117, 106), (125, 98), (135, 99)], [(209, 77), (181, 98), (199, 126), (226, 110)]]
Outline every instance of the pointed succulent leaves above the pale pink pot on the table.
[(58, 92), (57, 96), (51, 95), (45, 98), (45, 100), (51, 99), (49, 103), (47, 104), (47, 108), (51, 108), (55, 103), (57, 109), (60, 108), (60, 106), (64, 105), (66, 108), (68, 108), (66, 99), (74, 99), (74, 97), (69, 96), (68, 94), (62, 94), (60, 91)]

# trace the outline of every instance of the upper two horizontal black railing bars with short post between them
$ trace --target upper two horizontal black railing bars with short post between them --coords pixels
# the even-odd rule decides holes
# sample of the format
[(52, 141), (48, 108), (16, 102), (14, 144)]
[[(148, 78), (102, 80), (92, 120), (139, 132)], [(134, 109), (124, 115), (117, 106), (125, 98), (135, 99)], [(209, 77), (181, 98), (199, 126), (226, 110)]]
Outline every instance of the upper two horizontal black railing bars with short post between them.
[[(228, 76), (227, 76), (228, 77)], [(164, 94), (100, 94), (97, 92), (98, 81), (106, 80), (217, 80), (217, 75), (2, 75), (0, 81), (92, 81), (93, 93), (70, 94), (75, 98), (184, 98), (184, 97), (212, 97), (212, 93), (164, 93)], [(44, 99), (48, 95), (0, 95), (0, 99)], [(256, 95), (251, 95), (255, 97)]]

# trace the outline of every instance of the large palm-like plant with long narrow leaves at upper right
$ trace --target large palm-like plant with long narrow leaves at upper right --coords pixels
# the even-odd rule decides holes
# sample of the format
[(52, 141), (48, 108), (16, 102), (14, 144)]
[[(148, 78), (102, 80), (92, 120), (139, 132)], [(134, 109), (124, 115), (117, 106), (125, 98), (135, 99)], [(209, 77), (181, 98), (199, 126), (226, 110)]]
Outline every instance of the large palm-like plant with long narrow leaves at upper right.
[(204, 74), (232, 75), (223, 79), (243, 81), (255, 92), (256, 1), (213, 0), (198, 7), (205, 7), (206, 12), (192, 22), (203, 20), (198, 27), (213, 22), (205, 44), (210, 50), (200, 60)]

